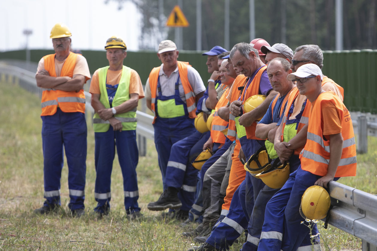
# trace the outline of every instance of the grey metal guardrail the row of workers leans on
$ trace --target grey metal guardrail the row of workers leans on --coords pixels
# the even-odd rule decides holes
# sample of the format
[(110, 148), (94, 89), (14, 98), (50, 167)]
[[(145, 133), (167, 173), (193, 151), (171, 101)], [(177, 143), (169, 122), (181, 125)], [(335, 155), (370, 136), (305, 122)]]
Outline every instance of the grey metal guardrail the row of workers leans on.
[[(37, 87), (35, 81), (35, 73), (22, 68), (0, 64), (0, 80), (18, 84), (32, 93), (41, 95), (41, 89)], [(94, 110), (90, 105), (91, 94), (85, 92), (85, 96), (86, 114), (92, 117)], [(138, 134), (139, 154), (144, 156), (146, 154), (146, 138), (154, 139), (153, 116), (141, 111), (136, 111), (136, 116), (138, 118), (136, 132)], [(366, 138), (369, 129), (374, 129), (374, 132), (376, 132), (377, 123), (366, 122), (365, 115), (352, 114), (352, 116), (358, 116), (358, 119), (354, 120), (353, 123), (354, 126), (357, 126), (359, 134), (362, 131)], [(359, 118), (365, 121), (365, 125), (360, 126), (360, 123), (364, 122), (360, 122)], [(372, 135), (370, 131), (369, 134)], [(335, 181), (331, 181), (329, 184), (329, 194), (334, 207), (330, 211), (328, 223), (362, 239), (363, 251), (377, 251), (377, 196)]]

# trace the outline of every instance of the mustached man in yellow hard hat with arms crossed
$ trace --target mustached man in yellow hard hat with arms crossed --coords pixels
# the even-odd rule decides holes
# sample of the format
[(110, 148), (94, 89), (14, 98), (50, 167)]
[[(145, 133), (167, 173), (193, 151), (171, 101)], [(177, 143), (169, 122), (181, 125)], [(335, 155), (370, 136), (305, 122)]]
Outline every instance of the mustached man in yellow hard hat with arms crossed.
[(37, 86), (42, 90), (42, 142), (44, 157), (44, 204), (34, 210), (45, 214), (60, 207), (60, 176), (63, 146), (69, 169), (69, 209), (84, 214), (86, 174), (86, 120), (83, 86), (90, 79), (86, 59), (70, 52), (71, 32), (62, 23), (52, 27), (55, 53), (38, 63)]

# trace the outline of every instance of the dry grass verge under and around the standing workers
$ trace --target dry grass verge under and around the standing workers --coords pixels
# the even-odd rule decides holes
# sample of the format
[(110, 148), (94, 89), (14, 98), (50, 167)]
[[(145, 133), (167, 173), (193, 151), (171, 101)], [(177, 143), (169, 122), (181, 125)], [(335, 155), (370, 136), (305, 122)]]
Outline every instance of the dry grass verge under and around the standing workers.
[[(88, 119), (86, 172), (86, 214), (72, 218), (67, 186), (67, 166), (61, 178), (63, 210), (52, 215), (33, 214), (43, 204), (43, 157), (41, 147), (40, 99), (25, 90), (0, 83), (0, 250), (186, 250), (192, 239), (181, 237), (176, 220), (164, 221), (160, 212), (147, 210), (162, 192), (161, 174), (152, 141), (147, 156), (139, 158), (137, 168), (139, 205), (144, 217), (125, 218), (123, 184), (115, 157), (112, 174), (112, 200), (109, 216), (98, 220), (92, 214), (94, 200), (94, 133)], [(369, 153), (358, 155), (358, 176), (340, 182), (357, 189), (377, 193), (377, 145), (369, 138)], [(322, 236), (331, 250), (361, 250), (361, 240), (334, 227)], [(244, 237), (230, 250), (239, 250)], [(323, 242), (322, 242), (323, 243)], [(326, 250), (324, 246), (322, 250)]]

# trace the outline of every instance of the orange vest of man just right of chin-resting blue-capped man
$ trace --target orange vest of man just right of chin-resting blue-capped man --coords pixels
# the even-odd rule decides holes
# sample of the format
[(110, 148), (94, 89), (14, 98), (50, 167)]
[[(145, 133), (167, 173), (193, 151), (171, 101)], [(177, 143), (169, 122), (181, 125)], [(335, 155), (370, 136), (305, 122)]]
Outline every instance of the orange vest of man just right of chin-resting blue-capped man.
[(230, 88), (224, 91), (222, 96), (220, 97), (219, 101), (215, 107), (215, 113), (213, 114), (212, 126), (211, 126), (211, 138), (213, 142), (224, 144), (225, 143), (225, 135), (221, 132), (225, 128), (227, 128), (228, 121), (225, 121), (218, 115), (219, 108), (226, 106), (228, 103), (228, 93)]

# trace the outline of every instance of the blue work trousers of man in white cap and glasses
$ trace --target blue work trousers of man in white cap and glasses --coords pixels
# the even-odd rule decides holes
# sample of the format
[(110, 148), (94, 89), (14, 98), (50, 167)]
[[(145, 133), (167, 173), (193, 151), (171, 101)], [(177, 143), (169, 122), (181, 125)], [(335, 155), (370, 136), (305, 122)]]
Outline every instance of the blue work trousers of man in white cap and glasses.
[[(258, 250), (296, 251), (299, 247), (311, 248), (308, 222), (300, 216), (299, 208), (305, 190), (320, 177), (302, 170), (301, 166), (291, 173), (284, 186), (267, 203)], [(311, 227), (314, 236), (318, 233), (317, 225), (312, 224)], [(319, 237), (315, 237), (313, 242), (316, 243), (314, 250), (320, 250)]]

